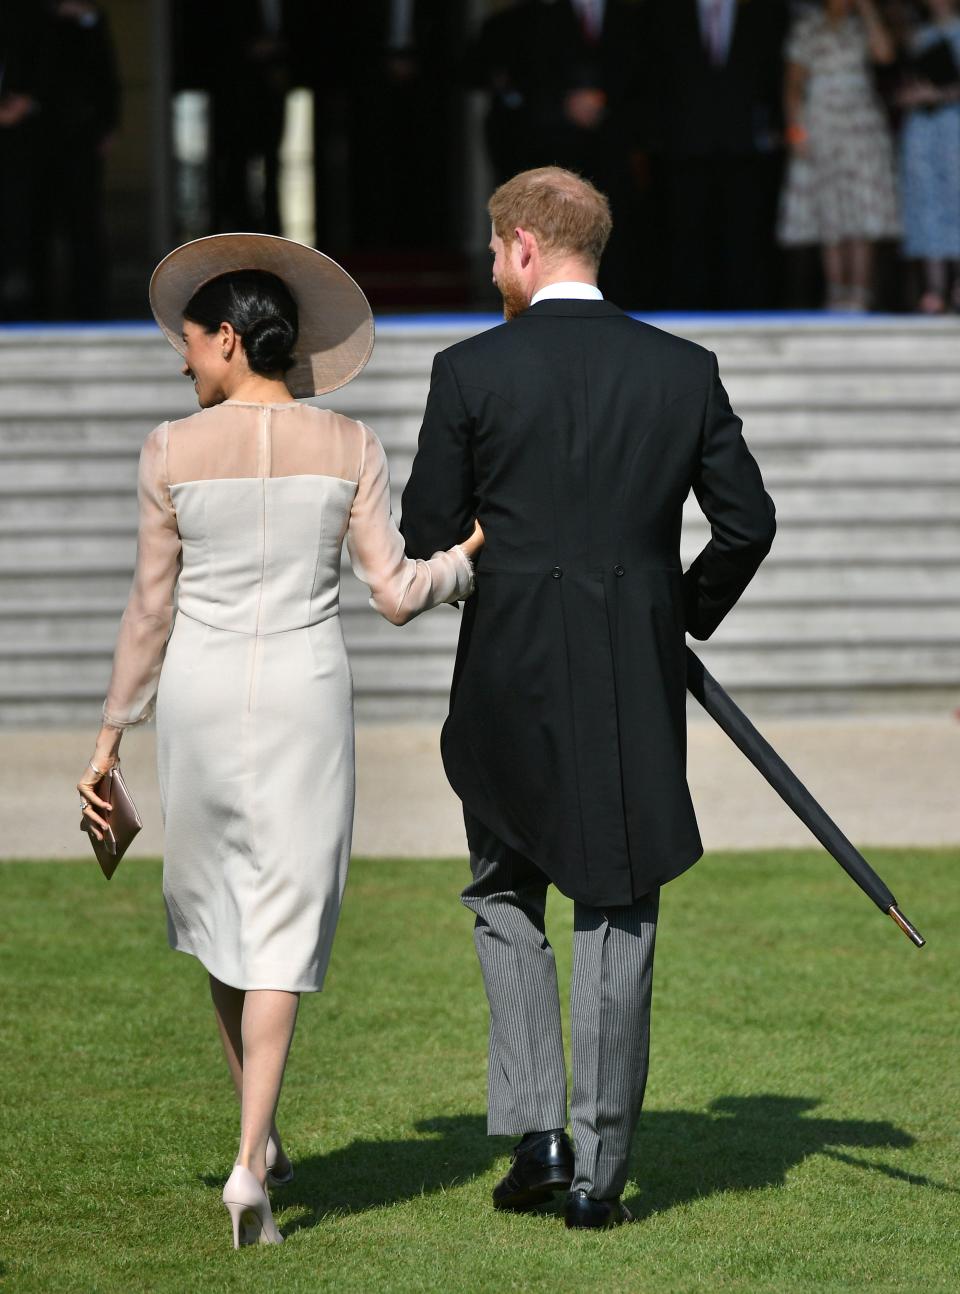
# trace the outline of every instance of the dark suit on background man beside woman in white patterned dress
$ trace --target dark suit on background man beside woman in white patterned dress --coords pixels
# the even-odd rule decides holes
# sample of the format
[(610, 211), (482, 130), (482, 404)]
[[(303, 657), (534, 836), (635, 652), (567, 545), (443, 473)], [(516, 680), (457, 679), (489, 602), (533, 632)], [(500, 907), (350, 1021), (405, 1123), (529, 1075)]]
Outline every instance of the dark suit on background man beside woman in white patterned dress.
[(787, 6), (737, 0), (734, 14), (726, 57), (714, 63), (697, 0), (649, 0), (646, 10), (671, 309), (775, 304)]

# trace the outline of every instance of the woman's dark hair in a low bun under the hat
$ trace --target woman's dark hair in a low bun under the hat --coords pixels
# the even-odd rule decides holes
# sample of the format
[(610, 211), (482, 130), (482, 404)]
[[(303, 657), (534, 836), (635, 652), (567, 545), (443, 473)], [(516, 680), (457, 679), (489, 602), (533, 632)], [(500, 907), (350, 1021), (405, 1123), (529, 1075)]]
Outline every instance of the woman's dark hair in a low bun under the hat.
[(294, 349), (300, 327), (296, 302), (283, 280), (267, 269), (217, 274), (197, 289), (186, 303), (184, 318), (207, 333), (230, 324), (243, 340), (254, 373), (272, 377), (287, 373), (296, 362)]

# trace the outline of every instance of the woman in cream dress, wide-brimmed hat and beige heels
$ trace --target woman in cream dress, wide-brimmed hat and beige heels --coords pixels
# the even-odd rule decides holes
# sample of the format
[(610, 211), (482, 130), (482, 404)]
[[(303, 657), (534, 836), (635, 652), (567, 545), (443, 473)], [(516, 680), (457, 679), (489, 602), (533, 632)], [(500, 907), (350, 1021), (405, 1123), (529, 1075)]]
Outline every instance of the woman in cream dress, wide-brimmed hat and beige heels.
[(144, 444), (136, 573), (79, 789), (100, 829), (97, 778), (155, 704), (169, 942), (210, 973), (242, 1102), (224, 1203), (234, 1244), (276, 1242), (265, 1185), (292, 1175), (277, 1101), (299, 994), (323, 983), (353, 826), (340, 550), (400, 625), (472, 591), (481, 537), (408, 559), (376, 436), (296, 401), (349, 380), (373, 348), (366, 299), (334, 261), (282, 238), (204, 238), (160, 263), (150, 299), (201, 411)]

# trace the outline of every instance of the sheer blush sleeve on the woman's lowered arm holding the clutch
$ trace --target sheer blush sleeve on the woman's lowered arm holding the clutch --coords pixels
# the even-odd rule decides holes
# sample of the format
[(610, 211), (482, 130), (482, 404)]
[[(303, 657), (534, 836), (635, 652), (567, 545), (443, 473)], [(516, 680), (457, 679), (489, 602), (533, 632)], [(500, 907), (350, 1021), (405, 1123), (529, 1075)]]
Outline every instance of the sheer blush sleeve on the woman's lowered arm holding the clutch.
[(137, 564), (114, 651), (104, 723), (124, 729), (149, 719), (173, 622), (180, 532), (167, 476), (168, 423), (144, 441), (137, 474)]

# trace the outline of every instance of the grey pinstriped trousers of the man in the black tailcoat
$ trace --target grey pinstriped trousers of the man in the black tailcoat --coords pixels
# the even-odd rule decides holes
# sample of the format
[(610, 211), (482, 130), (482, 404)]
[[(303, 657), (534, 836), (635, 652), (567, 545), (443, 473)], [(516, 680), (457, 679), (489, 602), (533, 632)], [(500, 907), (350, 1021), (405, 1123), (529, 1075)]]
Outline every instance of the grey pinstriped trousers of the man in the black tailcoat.
[[(550, 881), (464, 811), (474, 881), (463, 902), (490, 1004), (492, 1136), (567, 1124), (567, 1069), (554, 950), (543, 930)], [(643, 1102), (660, 890), (629, 907), (577, 903), (573, 930), (571, 1134), (573, 1190), (618, 1196)]]

